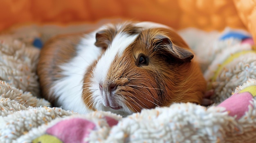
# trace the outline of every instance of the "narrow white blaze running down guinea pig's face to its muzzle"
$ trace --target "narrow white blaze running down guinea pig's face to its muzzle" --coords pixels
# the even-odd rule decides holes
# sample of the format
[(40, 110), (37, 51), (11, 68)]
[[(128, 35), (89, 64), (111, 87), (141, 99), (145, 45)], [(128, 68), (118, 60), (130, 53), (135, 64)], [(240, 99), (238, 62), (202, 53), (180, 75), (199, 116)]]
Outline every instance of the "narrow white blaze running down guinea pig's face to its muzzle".
[[(102, 105), (102, 97), (101, 97), (101, 92), (99, 89), (99, 83), (103, 84), (106, 82), (105, 80), (107, 79), (107, 73), (108, 70), (115, 59), (116, 56), (120, 57), (124, 50), (132, 43), (135, 41), (137, 38), (137, 35), (128, 35), (126, 33), (118, 33), (115, 38), (113, 39), (111, 45), (108, 47), (108, 49), (105, 51), (105, 53), (102, 55), (101, 59), (99, 59), (96, 67), (93, 70), (93, 78), (92, 78), (92, 86), (91, 90), (93, 92), (93, 99), (96, 103), (96, 108), (104, 110), (106, 107)], [(124, 99), (119, 99), (119, 104), (124, 108), (127, 106), (123, 103)], [(106, 109), (105, 109), (106, 110)], [(108, 109), (108, 110), (111, 110)], [(126, 112), (131, 113), (130, 110), (126, 110)], [(123, 112), (122, 110), (112, 110), (112, 112), (118, 113)]]

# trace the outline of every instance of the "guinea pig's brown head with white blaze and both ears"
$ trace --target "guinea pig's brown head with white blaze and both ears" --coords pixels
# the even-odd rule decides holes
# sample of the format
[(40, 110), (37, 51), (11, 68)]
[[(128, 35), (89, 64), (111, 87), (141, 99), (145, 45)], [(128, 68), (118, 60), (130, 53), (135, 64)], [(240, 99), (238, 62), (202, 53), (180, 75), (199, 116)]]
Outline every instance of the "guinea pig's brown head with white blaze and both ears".
[(201, 103), (206, 82), (189, 46), (152, 22), (109, 24), (95, 35), (103, 55), (85, 75), (88, 108), (118, 114), (175, 102)]

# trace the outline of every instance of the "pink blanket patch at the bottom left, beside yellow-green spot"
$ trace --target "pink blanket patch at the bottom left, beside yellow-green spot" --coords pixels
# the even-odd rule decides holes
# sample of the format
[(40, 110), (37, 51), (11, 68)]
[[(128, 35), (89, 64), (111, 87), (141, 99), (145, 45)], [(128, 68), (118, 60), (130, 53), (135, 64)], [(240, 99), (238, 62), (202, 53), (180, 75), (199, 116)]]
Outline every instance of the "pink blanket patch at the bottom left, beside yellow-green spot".
[(95, 124), (81, 118), (72, 118), (60, 121), (47, 129), (47, 134), (56, 136), (63, 143), (84, 143), (91, 130), (95, 129)]

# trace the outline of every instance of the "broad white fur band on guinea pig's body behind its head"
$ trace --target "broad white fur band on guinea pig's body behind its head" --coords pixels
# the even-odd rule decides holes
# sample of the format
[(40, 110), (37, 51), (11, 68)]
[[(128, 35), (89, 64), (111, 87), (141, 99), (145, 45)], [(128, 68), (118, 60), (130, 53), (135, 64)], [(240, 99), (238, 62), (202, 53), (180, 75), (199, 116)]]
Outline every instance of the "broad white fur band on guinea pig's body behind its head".
[(61, 65), (63, 79), (60, 79), (52, 87), (52, 91), (58, 97), (58, 105), (65, 110), (73, 110), (81, 114), (87, 113), (89, 109), (82, 99), (83, 78), (87, 68), (101, 55), (101, 48), (96, 47), (95, 37), (85, 37), (78, 45), (77, 55), (70, 62)]

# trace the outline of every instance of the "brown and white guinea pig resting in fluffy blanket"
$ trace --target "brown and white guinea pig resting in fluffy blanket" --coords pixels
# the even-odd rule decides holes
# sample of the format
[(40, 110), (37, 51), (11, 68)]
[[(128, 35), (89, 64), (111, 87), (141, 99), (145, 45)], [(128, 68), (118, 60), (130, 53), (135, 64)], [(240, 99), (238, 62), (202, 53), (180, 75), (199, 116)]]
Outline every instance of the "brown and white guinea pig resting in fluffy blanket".
[(168, 26), (128, 21), (54, 37), (40, 52), (37, 72), (42, 95), (54, 106), (128, 115), (177, 102), (200, 104), (206, 81), (193, 57)]

